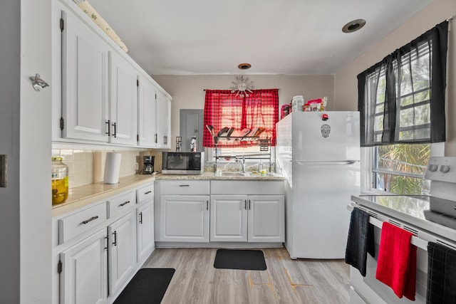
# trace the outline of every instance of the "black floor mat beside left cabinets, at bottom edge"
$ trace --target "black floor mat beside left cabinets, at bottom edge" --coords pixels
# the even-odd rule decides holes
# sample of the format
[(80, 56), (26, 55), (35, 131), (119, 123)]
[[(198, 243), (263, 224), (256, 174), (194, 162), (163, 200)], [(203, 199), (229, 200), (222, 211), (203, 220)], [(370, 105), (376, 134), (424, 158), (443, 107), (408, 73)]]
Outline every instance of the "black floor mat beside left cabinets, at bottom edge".
[(140, 269), (114, 304), (160, 304), (174, 273), (172, 268)]

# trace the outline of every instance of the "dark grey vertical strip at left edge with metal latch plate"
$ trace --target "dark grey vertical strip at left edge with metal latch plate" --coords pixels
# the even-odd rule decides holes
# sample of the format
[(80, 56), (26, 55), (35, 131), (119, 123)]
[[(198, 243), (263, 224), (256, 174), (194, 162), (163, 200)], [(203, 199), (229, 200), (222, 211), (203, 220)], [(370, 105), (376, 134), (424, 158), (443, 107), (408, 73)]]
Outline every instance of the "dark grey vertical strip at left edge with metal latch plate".
[(0, 303), (19, 303), (19, 83), (21, 2), (0, 2), (0, 154), (6, 154), (6, 188), (0, 188)]

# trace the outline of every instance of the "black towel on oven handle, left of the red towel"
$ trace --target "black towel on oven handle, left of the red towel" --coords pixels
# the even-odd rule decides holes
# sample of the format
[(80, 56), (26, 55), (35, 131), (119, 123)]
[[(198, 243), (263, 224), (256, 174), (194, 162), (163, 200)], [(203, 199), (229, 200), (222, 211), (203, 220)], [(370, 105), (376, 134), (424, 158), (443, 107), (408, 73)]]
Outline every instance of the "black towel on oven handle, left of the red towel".
[(373, 226), (368, 212), (358, 208), (351, 211), (350, 226), (345, 252), (345, 262), (366, 276), (367, 253), (375, 256)]

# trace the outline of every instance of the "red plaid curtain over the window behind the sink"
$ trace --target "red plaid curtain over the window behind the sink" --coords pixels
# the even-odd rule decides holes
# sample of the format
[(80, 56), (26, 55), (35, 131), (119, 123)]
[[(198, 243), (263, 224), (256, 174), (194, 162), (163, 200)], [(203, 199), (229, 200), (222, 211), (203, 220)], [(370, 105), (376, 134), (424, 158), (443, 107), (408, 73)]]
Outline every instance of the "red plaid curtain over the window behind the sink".
[[(203, 147), (214, 147), (214, 138), (206, 125), (213, 127), (217, 135), (224, 127), (234, 127), (231, 137), (242, 136), (242, 130), (264, 128), (260, 139), (268, 139), (276, 145), (276, 122), (279, 120), (279, 89), (252, 90), (249, 97), (231, 90), (206, 90), (204, 100), (204, 137)], [(218, 147), (249, 147), (250, 141), (219, 141)], [(254, 143), (257, 145), (257, 143)]]

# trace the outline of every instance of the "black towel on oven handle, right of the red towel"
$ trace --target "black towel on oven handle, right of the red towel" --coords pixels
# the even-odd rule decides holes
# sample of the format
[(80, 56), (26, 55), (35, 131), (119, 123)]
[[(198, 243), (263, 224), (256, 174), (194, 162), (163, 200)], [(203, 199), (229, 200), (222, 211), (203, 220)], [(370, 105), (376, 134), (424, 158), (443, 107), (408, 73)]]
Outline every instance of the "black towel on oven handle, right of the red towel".
[(456, 251), (427, 244), (427, 304), (456, 303)]

